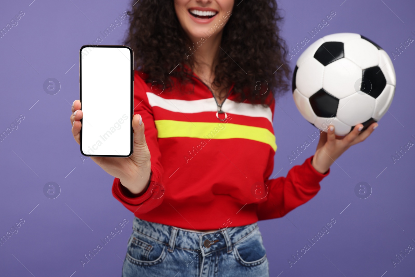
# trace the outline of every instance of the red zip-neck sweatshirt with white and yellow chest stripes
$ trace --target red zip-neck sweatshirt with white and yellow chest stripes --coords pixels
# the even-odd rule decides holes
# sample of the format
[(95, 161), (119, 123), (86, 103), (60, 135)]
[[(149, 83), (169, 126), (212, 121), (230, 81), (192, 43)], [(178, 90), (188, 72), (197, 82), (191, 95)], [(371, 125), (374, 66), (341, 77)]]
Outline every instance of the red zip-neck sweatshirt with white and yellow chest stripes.
[(143, 78), (135, 72), (134, 114), (145, 124), (150, 184), (137, 197), (118, 178), (112, 186), (114, 197), (138, 218), (195, 230), (278, 218), (315, 196), (330, 173), (317, 172), (311, 156), (286, 177), (269, 179), (277, 148), (274, 102), (237, 103), (231, 88), (222, 122), (212, 92), (196, 75), (194, 87), (181, 91), (161, 92)]

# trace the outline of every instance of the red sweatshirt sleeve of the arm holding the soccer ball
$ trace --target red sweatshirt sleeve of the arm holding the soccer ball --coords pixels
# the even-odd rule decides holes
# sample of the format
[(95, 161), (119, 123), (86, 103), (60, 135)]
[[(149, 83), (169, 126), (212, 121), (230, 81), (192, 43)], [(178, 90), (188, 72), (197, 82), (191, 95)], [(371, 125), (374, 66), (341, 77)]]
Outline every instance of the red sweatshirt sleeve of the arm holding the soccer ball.
[[(274, 114), (275, 104), (270, 108)], [(275, 152), (273, 152), (275, 154)], [(313, 155), (314, 156), (314, 155)], [(330, 169), (324, 174), (318, 172), (308, 157), (301, 165), (295, 165), (288, 171), (286, 177), (268, 179), (273, 170), (273, 155), (270, 155), (268, 166), (264, 173), (264, 184), (267, 195), (264, 202), (257, 206), (259, 220), (285, 216), (289, 211), (312, 199), (320, 190), (320, 181), (330, 174)]]

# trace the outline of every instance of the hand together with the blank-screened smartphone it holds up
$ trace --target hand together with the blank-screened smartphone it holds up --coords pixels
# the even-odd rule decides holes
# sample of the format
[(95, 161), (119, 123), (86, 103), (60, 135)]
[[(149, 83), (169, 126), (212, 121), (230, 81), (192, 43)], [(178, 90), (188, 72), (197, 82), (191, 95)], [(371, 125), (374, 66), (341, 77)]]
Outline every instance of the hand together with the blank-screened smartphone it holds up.
[(149, 183), (151, 162), (144, 123), (140, 115), (133, 117), (132, 49), (84, 45), (79, 55), (80, 100), (72, 105), (73, 137), (83, 155), (139, 194)]

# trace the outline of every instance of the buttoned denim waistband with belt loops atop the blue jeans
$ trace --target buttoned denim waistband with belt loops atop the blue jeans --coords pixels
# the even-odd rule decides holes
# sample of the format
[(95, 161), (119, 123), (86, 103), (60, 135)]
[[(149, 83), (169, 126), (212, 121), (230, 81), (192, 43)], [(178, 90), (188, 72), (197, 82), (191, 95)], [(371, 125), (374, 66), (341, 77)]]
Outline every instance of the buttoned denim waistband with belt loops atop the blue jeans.
[(226, 249), (228, 253), (232, 252), (233, 245), (258, 230), (258, 225), (252, 223), (245, 226), (218, 229), (215, 232), (200, 232), (145, 221), (135, 217), (133, 229), (156, 242), (168, 246), (170, 252), (173, 252), (174, 248), (179, 248), (198, 252), (198, 254), (205, 257), (222, 249)]

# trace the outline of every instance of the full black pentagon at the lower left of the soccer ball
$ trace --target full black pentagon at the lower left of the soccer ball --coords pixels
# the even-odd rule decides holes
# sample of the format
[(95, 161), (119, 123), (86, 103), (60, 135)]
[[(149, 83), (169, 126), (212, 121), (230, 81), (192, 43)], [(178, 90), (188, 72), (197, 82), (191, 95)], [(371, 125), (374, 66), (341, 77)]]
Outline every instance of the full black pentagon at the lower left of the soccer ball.
[(324, 89), (314, 93), (310, 99), (310, 105), (314, 113), (322, 118), (336, 116), (339, 99), (330, 95)]

